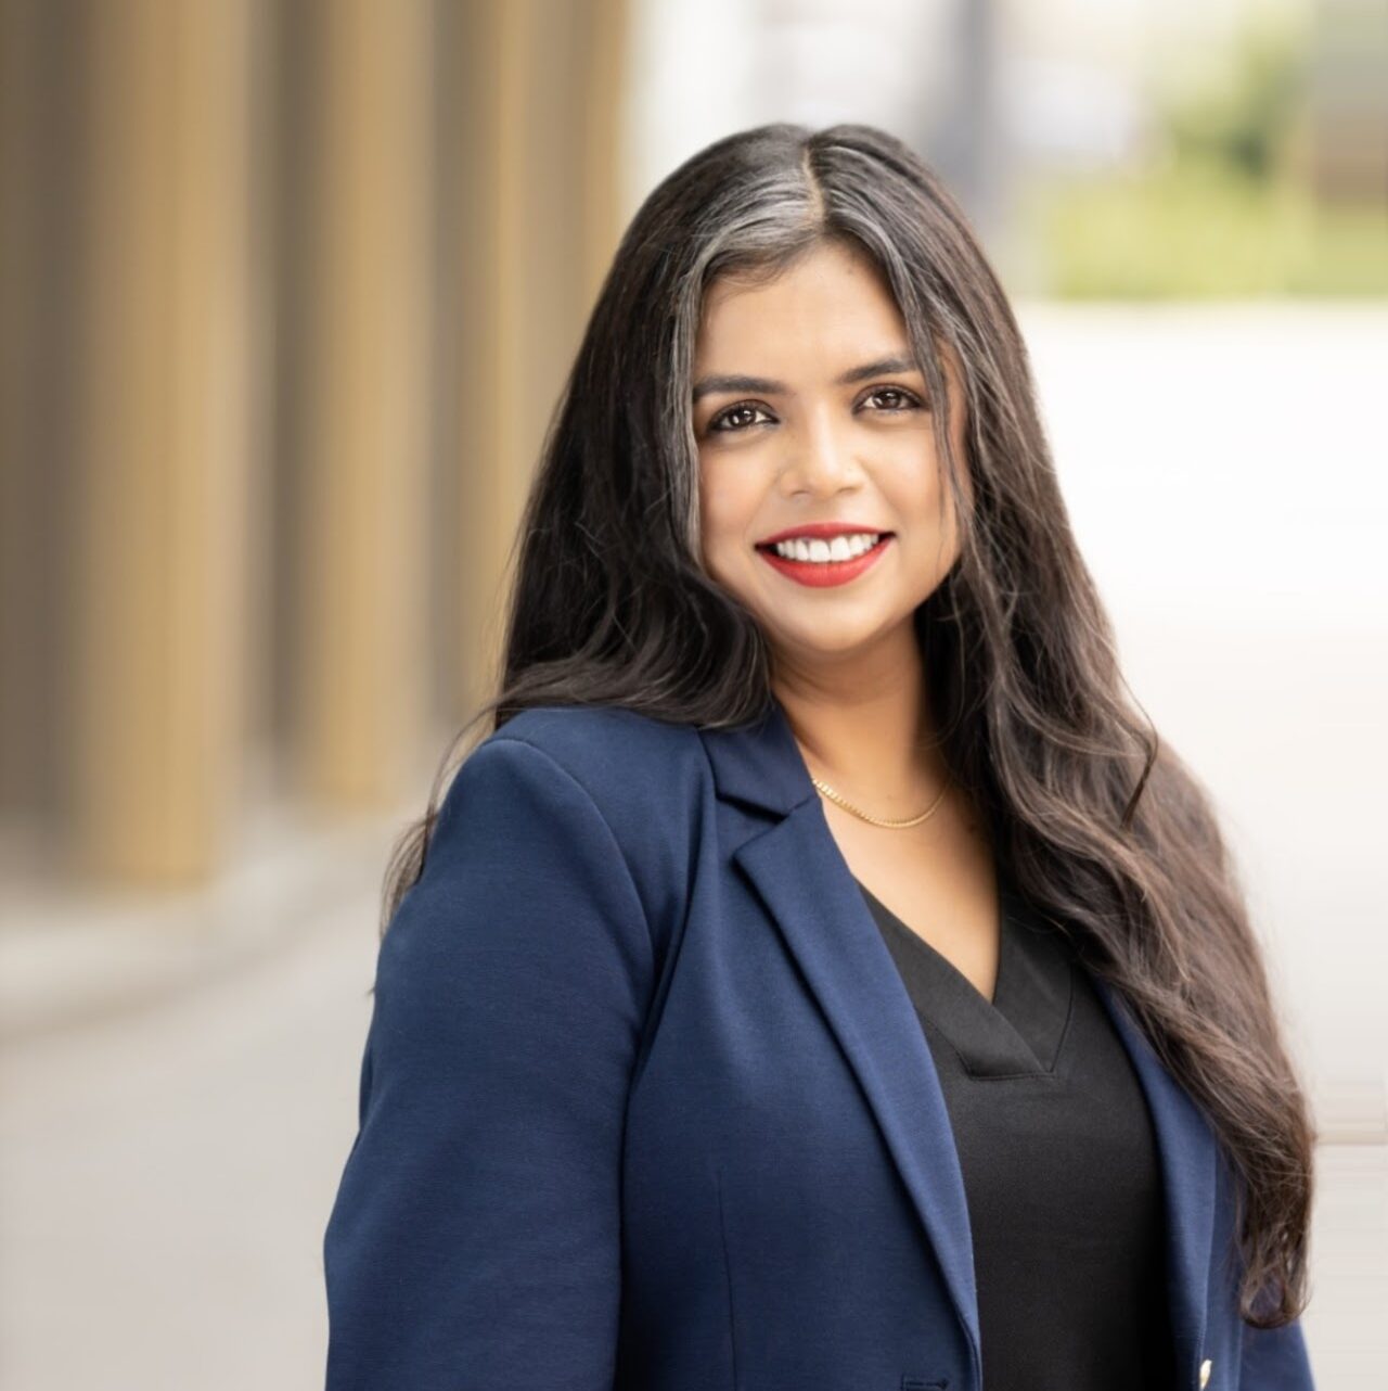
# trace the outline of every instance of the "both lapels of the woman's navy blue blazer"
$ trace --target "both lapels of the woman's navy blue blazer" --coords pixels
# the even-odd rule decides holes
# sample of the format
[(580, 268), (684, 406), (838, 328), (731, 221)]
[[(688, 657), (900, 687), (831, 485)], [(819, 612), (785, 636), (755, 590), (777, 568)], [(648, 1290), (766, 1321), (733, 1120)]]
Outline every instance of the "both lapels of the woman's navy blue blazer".
[[(766, 906), (876, 1117), (981, 1372), (968, 1200), (935, 1060), (876, 922), (823, 815), (777, 701), (752, 725), (705, 729), (719, 796), (759, 812), (733, 860)], [(1128, 1007), (1090, 974), (1146, 1095), (1167, 1203), (1168, 1296), (1178, 1366), (1195, 1377), (1206, 1331), (1216, 1141)]]

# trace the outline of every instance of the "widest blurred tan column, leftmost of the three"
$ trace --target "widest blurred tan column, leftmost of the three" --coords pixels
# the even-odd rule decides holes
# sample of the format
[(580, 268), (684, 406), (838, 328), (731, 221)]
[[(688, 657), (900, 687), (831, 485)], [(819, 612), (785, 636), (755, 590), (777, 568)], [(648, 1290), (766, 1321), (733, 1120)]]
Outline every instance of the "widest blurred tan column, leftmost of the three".
[(242, 759), (249, 0), (83, 7), (76, 858), (197, 878)]

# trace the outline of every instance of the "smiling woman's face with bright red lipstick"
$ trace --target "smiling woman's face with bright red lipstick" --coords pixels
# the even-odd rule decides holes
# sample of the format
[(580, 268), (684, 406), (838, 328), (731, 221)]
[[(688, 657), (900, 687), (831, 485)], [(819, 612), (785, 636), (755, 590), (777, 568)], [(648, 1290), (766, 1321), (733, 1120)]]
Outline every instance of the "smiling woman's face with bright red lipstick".
[[(773, 281), (725, 280), (705, 296), (693, 408), (704, 565), (794, 666), (914, 643), (912, 611), (958, 555), (925, 376), (911, 359), (880, 273), (840, 245)], [(949, 355), (946, 370), (964, 460)], [(801, 529), (846, 536), (797, 542), (808, 545), (798, 559), (765, 544)]]

